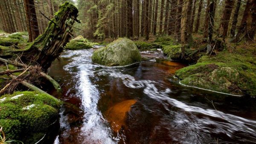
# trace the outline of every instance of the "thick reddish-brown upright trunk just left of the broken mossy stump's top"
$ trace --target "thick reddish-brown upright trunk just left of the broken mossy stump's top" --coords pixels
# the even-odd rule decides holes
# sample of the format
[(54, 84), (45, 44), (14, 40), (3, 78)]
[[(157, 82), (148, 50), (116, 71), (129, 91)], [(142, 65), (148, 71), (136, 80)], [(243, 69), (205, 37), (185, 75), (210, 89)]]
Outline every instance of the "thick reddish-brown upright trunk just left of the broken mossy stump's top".
[(26, 11), (29, 42), (32, 42), (39, 35), (38, 21), (37, 21), (37, 17), (36, 17), (36, 13), (35, 13), (34, 0), (24, 0), (24, 7), (25, 7), (25, 11)]

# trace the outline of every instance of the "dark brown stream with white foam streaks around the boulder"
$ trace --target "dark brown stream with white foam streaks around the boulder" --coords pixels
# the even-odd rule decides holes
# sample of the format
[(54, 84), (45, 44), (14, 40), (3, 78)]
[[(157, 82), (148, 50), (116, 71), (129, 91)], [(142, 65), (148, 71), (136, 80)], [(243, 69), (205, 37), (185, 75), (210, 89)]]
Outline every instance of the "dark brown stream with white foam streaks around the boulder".
[(93, 51), (65, 51), (48, 69), (66, 102), (54, 144), (256, 143), (255, 98), (182, 86), (174, 73), (185, 65), (161, 52), (107, 67)]

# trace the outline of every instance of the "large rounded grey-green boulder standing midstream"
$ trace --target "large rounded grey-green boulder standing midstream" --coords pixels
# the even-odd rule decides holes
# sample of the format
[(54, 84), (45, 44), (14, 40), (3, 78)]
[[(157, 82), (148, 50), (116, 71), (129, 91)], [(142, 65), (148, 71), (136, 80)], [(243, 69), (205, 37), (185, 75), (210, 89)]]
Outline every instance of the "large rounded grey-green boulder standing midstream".
[(92, 60), (105, 66), (125, 66), (141, 61), (141, 55), (132, 40), (118, 38), (108, 46), (93, 52)]

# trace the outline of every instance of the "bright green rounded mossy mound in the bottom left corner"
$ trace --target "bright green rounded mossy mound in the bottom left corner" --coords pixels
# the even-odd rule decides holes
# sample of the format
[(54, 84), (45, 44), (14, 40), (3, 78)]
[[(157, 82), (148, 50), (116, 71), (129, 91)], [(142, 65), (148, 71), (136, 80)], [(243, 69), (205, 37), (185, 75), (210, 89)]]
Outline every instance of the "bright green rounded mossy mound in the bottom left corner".
[(38, 92), (0, 97), (0, 127), (10, 139), (34, 144), (58, 118), (60, 101)]

